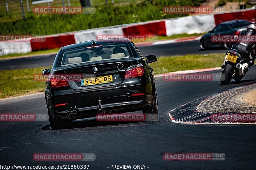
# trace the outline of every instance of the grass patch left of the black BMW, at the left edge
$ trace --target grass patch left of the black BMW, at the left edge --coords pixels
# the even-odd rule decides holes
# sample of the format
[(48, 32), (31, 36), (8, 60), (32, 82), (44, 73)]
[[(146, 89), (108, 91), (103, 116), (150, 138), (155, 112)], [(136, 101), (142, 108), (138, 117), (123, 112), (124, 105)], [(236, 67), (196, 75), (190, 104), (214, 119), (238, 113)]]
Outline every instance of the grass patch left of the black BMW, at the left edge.
[(33, 75), (41, 74), (46, 68), (51, 66), (0, 71), (0, 98), (44, 91), (45, 81), (34, 81)]

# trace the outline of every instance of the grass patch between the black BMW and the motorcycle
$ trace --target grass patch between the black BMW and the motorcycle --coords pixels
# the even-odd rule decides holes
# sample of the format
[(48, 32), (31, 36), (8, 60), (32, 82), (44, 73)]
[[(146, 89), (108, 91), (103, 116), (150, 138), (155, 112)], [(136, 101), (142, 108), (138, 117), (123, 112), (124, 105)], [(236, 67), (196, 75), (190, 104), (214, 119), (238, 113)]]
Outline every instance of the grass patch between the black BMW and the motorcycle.
[(154, 74), (163, 74), (181, 70), (220, 67), (224, 58), (225, 54), (169, 56), (159, 57), (156, 62), (149, 65), (154, 69)]

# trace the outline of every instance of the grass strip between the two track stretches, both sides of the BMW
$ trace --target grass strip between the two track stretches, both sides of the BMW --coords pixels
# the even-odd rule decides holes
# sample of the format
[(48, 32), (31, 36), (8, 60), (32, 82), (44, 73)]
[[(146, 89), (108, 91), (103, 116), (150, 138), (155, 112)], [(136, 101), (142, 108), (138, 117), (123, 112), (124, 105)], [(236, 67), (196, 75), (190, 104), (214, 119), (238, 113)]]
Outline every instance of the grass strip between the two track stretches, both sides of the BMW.
[[(150, 66), (154, 74), (173, 71), (220, 67), (225, 54), (184, 55), (159, 57)], [(34, 81), (34, 74), (41, 74), (43, 69), (50, 67), (37, 67), (16, 70), (0, 71), (0, 98), (20, 96), (41, 92), (45, 88), (45, 81)]]

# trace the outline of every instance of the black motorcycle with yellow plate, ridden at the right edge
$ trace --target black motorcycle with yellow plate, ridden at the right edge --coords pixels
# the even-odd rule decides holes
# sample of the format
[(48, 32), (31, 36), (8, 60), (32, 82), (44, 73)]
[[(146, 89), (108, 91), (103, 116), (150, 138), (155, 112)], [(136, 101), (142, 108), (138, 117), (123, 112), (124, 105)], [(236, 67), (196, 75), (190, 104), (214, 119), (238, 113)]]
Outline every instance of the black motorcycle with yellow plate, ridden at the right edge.
[[(254, 60), (250, 61), (249, 64), (245, 62), (243, 54), (232, 47), (226, 52), (225, 60), (221, 66), (222, 74), (220, 83), (222, 85), (229, 84), (232, 79), (236, 82), (240, 82), (254, 62)], [(252, 46), (250, 50), (250, 58), (251, 57), (255, 58), (254, 46)]]

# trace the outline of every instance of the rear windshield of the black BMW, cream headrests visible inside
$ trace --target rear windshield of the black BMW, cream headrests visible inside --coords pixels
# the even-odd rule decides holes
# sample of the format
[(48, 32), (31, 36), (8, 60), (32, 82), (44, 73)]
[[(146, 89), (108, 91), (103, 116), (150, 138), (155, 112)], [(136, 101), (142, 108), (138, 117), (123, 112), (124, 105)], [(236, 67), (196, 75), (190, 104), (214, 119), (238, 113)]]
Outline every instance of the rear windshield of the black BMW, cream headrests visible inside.
[(85, 46), (61, 53), (61, 66), (90, 63), (100, 60), (113, 60), (132, 57), (128, 43), (108, 43)]

